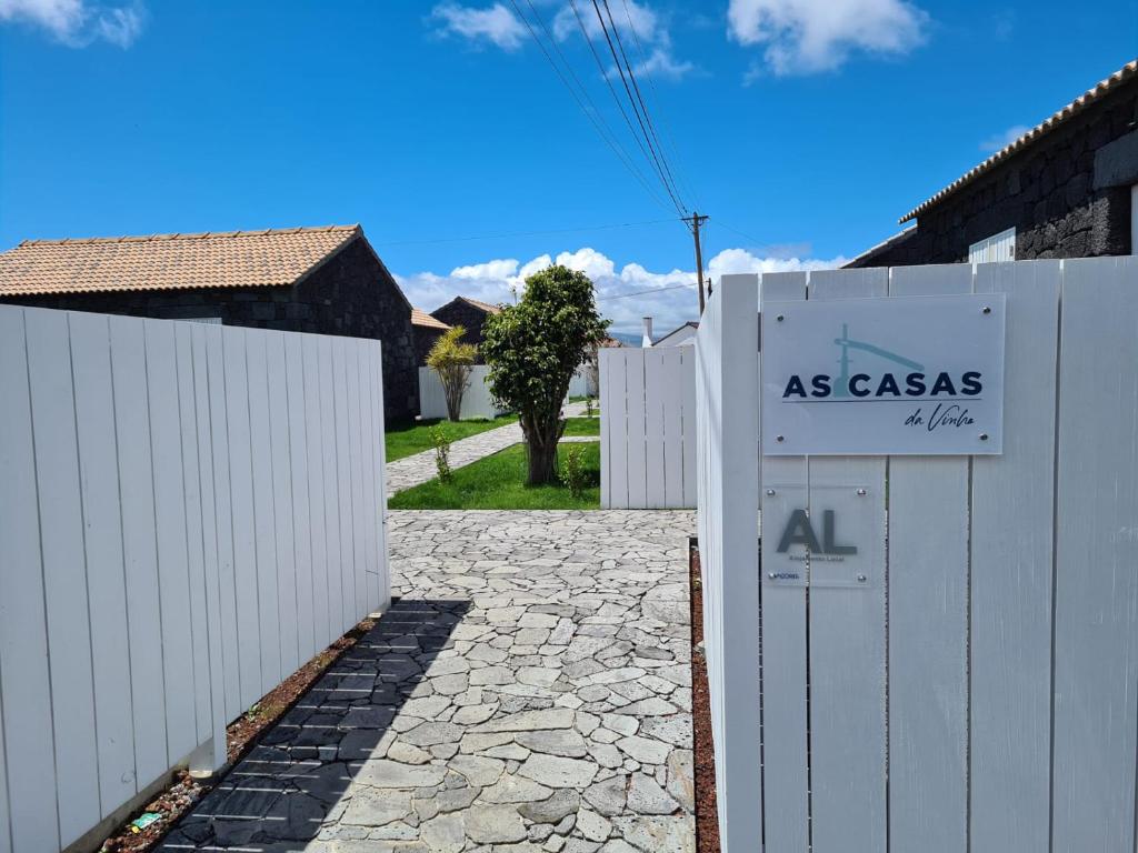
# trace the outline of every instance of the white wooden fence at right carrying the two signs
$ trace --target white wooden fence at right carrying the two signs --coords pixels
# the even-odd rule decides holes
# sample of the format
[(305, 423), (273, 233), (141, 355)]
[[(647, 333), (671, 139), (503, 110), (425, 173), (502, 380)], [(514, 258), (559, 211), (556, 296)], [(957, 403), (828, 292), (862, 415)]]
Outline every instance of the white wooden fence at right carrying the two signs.
[(865, 488), (852, 589), (756, 580), (758, 289), (726, 278), (698, 345), (724, 851), (1133, 853), (1138, 259), (762, 278), (766, 300), (1006, 293), (1001, 455), (760, 457), (765, 504)]

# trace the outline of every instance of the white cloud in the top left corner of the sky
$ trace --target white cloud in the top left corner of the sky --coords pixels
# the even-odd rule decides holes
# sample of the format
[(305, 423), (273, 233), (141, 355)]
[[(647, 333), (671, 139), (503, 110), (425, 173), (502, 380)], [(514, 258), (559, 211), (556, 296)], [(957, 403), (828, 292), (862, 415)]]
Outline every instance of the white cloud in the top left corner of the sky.
[(0, 0), (0, 23), (30, 24), (72, 48), (94, 41), (129, 48), (145, 22), (146, 11), (139, 2), (112, 7), (86, 0)]

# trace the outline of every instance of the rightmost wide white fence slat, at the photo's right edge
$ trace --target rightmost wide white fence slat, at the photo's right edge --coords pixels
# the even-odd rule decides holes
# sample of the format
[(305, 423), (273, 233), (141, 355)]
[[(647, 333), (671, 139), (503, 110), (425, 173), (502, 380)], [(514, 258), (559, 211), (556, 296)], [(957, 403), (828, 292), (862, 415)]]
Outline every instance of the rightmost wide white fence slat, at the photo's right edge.
[(1135, 844), (1136, 317), (1135, 258), (1064, 264), (1055, 540), (1056, 851), (1115, 853)]

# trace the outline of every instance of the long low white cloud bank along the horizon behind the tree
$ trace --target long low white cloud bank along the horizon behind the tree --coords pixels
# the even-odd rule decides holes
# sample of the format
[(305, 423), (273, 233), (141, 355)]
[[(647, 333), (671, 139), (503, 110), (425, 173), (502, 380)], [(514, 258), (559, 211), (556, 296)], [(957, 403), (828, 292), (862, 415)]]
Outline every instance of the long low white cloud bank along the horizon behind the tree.
[[(607, 255), (591, 247), (539, 255), (525, 264), (514, 258), (497, 258), (460, 266), (446, 275), (431, 272), (396, 275), (413, 305), (434, 310), (456, 296), (487, 303), (512, 303), (525, 279), (552, 263), (563, 264), (588, 275), (596, 285), (597, 307), (618, 332), (638, 332), (641, 317), (651, 315), (660, 334), (699, 315), (695, 273), (692, 270), (652, 272), (642, 264), (628, 263), (619, 270)], [(841, 266), (846, 258), (823, 260), (787, 256), (757, 256), (745, 249), (725, 249), (708, 263), (706, 274), (715, 284), (731, 273), (769, 273), (793, 270), (827, 270)], [(642, 292), (646, 291), (646, 292)], [(625, 296), (635, 293), (636, 296)], [(622, 298), (612, 298), (622, 297)]]

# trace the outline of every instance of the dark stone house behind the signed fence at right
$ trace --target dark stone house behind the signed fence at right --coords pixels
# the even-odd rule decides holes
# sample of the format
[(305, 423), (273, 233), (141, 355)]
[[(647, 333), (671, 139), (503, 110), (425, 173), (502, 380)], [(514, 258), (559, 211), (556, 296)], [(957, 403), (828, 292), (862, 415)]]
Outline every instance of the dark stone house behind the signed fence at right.
[(1129, 255), (1138, 248), (1138, 60), (929, 200), (848, 266)]

